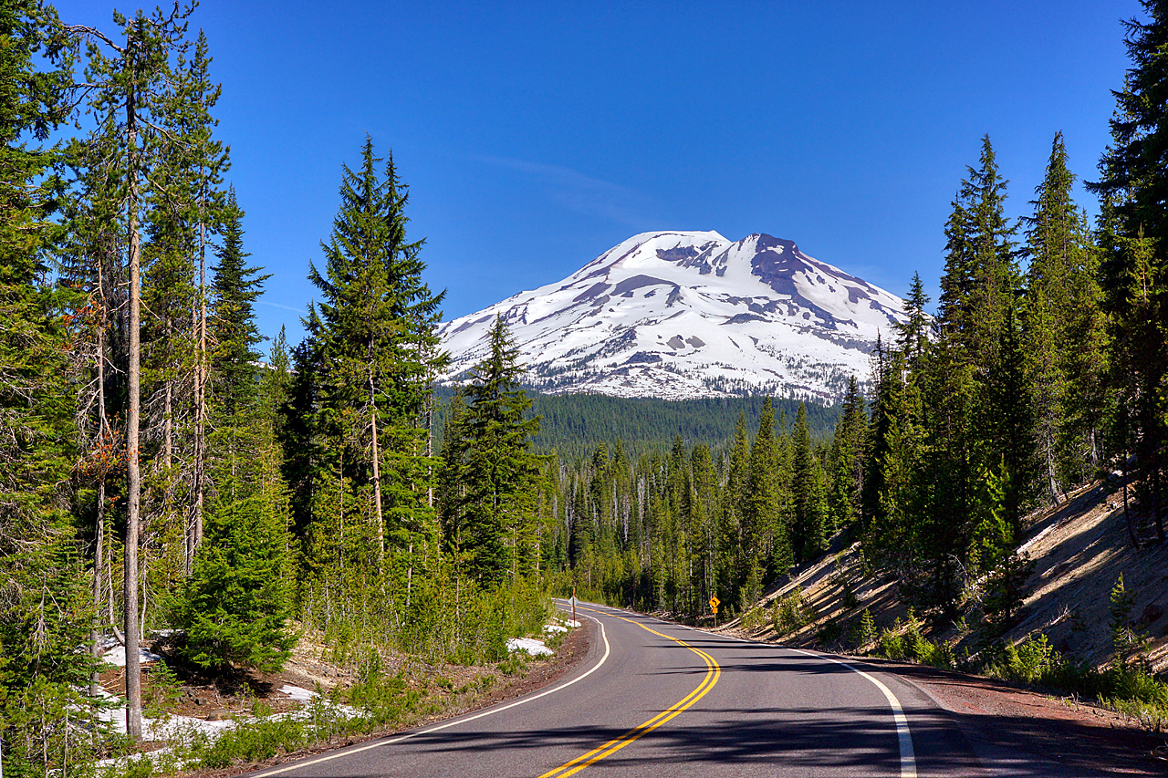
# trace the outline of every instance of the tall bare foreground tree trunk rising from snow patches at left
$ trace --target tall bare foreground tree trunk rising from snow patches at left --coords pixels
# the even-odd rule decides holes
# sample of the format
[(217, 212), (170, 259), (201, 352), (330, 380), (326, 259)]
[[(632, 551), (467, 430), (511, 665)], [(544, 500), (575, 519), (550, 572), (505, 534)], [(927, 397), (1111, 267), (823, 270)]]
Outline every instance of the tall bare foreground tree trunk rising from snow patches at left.
[(141, 411), (141, 289), (138, 245), (138, 171), (134, 160), (138, 134), (134, 93), (126, 100), (130, 190), (126, 202), (130, 232), (130, 400), (126, 409), (126, 542), (125, 542), (125, 639), (126, 639), (126, 734), (138, 743), (142, 737), (141, 668), (138, 657), (138, 522), (141, 509), (141, 473), (138, 461), (138, 425)]

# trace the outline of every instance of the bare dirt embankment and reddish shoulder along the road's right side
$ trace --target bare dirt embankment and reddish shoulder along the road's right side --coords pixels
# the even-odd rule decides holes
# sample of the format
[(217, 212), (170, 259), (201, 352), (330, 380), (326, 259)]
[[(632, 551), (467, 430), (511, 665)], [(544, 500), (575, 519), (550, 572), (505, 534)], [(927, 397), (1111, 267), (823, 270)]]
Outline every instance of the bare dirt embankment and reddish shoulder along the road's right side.
[[(1133, 520), (1141, 541), (1131, 542), (1122, 496), (1103, 484), (1078, 489), (1056, 508), (1027, 517), (1020, 551), (1034, 563), (1026, 597), (1014, 626), (1003, 639), (1018, 642), (1043, 633), (1064, 657), (1103, 667), (1114, 651), (1111, 634), (1111, 591), (1122, 575), (1134, 595), (1131, 626), (1146, 639), (1145, 652), (1154, 672), (1168, 671), (1168, 543), (1155, 543), (1154, 532)], [(833, 549), (820, 561), (794, 571), (766, 593), (762, 613), (797, 588), (802, 590), (809, 623), (790, 634), (776, 633), (770, 618), (748, 628), (735, 619), (718, 631), (755, 640), (840, 651), (840, 641), (822, 645), (828, 624), (846, 626), (864, 609), (878, 628), (908, 617), (891, 578), (861, 574), (858, 544)], [(850, 591), (850, 595), (847, 592)], [(844, 603), (854, 597), (854, 602)], [(756, 619), (758, 612), (756, 612)], [(830, 631), (828, 631), (830, 632)], [(975, 652), (979, 635), (958, 625), (930, 635), (946, 640), (954, 655)], [(920, 665), (891, 662), (867, 655), (874, 644), (844, 653), (895, 672), (929, 694), (960, 722), (971, 742), (987, 755), (1010, 751), (1042, 753), (1084, 773), (1168, 774), (1168, 734), (1147, 731), (1122, 714), (1089, 704), (1075, 696), (1043, 694), (962, 673)]]

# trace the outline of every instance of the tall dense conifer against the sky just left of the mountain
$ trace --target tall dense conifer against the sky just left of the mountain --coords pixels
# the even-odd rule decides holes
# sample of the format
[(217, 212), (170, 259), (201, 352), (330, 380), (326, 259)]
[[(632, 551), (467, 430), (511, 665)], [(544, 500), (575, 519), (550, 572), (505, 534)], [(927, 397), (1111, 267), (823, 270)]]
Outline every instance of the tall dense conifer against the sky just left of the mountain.
[(405, 237), (406, 187), (392, 157), (382, 176), (380, 161), (367, 138), (360, 169), (343, 167), (341, 209), (321, 244), (325, 268), (310, 270), (324, 299), (310, 307), (305, 355), (317, 383), (315, 431), (340, 443), (332, 449), (341, 482), (347, 460), (348, 477), (367, 495), (374, 567), (382, 575), (387, 539), (409, 554), (415, 534), (432, 525), (433, 463), (423, 417), (439, 362), (433, 329), (444, 293), (422, 283), (423, 242)]

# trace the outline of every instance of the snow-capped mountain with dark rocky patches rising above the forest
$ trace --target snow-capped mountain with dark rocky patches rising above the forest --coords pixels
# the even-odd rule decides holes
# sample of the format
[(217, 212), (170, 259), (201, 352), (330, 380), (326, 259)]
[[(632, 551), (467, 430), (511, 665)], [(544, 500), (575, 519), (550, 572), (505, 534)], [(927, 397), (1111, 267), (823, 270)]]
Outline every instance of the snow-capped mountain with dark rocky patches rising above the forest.
[(549, 394), (836, 400), (868, 377), (904, 301), (812, 259), (792, 241), (644, 232), (556, 284), (442, 325), (446, 381), (484, 356), (502, 317)]

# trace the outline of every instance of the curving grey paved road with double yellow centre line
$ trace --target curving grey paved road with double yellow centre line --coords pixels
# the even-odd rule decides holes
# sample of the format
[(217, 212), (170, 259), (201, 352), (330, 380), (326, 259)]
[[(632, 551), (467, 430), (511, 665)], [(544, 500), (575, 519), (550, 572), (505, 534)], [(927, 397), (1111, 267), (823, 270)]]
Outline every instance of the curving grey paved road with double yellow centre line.
[(255, 778), (1057, 776), (986, 769), (915, 686), (858, 664), (586, 605), (588, 657), (517, 701)]

